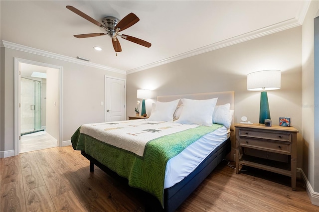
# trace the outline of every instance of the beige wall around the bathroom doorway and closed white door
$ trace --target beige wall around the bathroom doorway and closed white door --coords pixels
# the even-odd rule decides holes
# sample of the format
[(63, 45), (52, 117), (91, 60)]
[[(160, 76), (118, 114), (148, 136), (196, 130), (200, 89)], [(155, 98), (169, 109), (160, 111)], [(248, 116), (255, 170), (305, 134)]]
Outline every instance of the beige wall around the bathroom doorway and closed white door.
[(126, 79), (125, 74), (1, 47), (0, 151), (14, 149), (14, 57), (61, 66), (62, 141), (70, 140), (84, 123), (104, 121), (104, 76)]

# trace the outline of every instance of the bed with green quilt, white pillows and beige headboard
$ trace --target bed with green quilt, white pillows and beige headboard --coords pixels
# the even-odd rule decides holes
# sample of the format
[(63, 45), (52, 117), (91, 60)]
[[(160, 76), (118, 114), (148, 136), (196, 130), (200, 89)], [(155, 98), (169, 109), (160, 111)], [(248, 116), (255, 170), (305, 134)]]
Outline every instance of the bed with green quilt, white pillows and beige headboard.
[[(217, 120), (218, 114), (228, 110), (230, 118), (226, 122), (229, 123), (213, 121), (209, 125), (209, 118), (198, 118), (202, 116), (199, 113), (209, 113), (211, 104), (216, 106), (210, 120), (214, 117)], [(197, 116), (189, 120), (192, 115), (186, 112), (193, 106), (201, 109), (193, 112)], [(163, 109), (165, 114), (160, 112)], [(152, 201), (160, 203), (163, 211), (172, 212), (229, 154), (234, 136), (233, 109), (234, 92), (160, 96), (150, 118), (85, 124), (73, 134), (71, 141), (73, 148), (90, 160), (90, 171), (96, 165), (110, 175), (127, 178), (131, 187), (152, 194)], [(171, 116), (174, 120), (169, 119)], [(111, 135), (111, 131), (118, 133), (121, 140), (115, 140), (118, 135)], [(128, 140), (131, 137), (134, 138)], [(137, 143), (134, 140), (137, 137), (142, 141)], [(166, 146), (164, 153), (157, 150), (162, 146)], [(111, 159), (111, 155), (116, 159)]]

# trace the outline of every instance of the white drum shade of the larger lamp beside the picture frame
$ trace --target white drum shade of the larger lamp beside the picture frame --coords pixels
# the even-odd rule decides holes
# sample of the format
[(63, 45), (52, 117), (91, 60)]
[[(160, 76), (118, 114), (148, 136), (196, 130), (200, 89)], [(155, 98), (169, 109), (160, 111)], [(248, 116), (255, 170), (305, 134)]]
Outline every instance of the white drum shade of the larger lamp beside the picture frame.
[(276, 90), (280, 89), (280, 85), (280, 70), (257, 71), (247, 75), (248, 91)]

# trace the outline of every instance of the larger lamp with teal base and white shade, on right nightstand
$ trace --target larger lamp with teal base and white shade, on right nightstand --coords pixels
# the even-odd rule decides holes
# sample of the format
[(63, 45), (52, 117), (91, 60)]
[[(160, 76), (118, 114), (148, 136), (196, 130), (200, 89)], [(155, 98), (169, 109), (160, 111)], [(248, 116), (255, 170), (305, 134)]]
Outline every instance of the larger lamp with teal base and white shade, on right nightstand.
[(270, 119), (267, 90), (280, 89), (281, 71), (257, 71), (247, 75), (247, 90), (262, 91), (260, 93), (259, 123), (264, 124), (265, 119)]

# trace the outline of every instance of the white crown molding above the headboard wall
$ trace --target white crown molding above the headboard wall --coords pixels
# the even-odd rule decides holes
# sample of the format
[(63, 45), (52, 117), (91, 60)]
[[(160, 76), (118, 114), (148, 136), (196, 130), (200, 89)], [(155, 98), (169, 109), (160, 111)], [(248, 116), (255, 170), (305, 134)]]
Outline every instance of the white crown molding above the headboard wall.
[[(305, 13), (305, 9), (302, 10), (302, 11)], [(306, 12), (307, 12), (307, 10), (306, 10)], [(300, 19), (303, 20), (304, 16), (302, 17), (300, 15)], [(163, 59), (163, 60), (148, 64), (148, 65), (145, 65), (145, 66), (141, 66), (141, 67), (138, 67), (138, 68), (135, 68), (135, 69), (131, 69), (131, 70), (128, 70), (126, 73), (127, 74), (133, 74), (133, 73), (136, 73), (136, 72), (139, 72), (139, 71), (143, 71), (145, 69), (150, 69), (150, 68), (153, 68), (153, 67), (156, 67), (156, 66), (160, 66), (160, 65), (167, 64), (167, 63), (171, 63), (171, 62), (174, 62), (174, 61), (177, 61), (177, 60), (181, 60), (181, 59), (184, 59), (184, 58), (187, 58), (187, 57), (192, 57), (192, 56), (195, 56), (195, 55), (203, 54), (203, 53), (206, 53), (206, 52), (209, 52), (209, 51), (213, 51), (213, 50), (216, 50), (216, 49), (224, 48), (224, 47), (227, 47), (227, 46), (231, 46), (231, 45), (234, 45), (234, 44), (237, 44), (237, 43), (241, 43), (241, 42), (244, 42), (244, 41), (252, 40), (252, 39), (255, 39), (255, 38), (258, 38), (258, 37), (262, 37), (262, 36), (269, 35), (269, 34), (272, 34), (272, 33), (275, 33), (275, 32), (279, 32), (279, 31), (283, 31), (283, 30), (286, 30), (286, 29), (290, 29), (290, 28), (293, 28), (293, 27), (296, 27), (296, 26), (300, 26), (300, 25), (302, 25), (300, 20), (298, 20), (296, 18), (291, 18), (289, 20), (286, 20), (286, 21), (283, 21), (283, 22), (280, 22), (280, 23), (277, 23), (277, 24), (274, 24), (274, 25), (270, 25), (270, 26), (267, 26), (267, 27), (264, 27), (264, 28), (261, 28), (261, 29), (257, 29), (255, 31), (248, 32), (248, 33), (245, 33), (245, 34), (242, 34), (242, 35), (239, 35), (239, 36), (235, 36), (235, 37), (232, 37), (232, 38), (229, 38), (229, 39), (226, 39), (226, 40), (222, 40), (222, 41), (219, 41), (219, 42), (204, 46), (202, 48), (194, 49), (194, 50), (191, 50), (191, 51), (188, 51), (188, 52), (185, 52), (185, 53), (173, 56), (173, 57), (169, 57), (169, 58), (166, 58), (166, 59)]]

